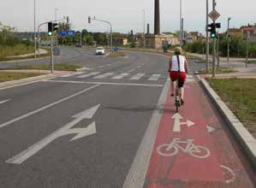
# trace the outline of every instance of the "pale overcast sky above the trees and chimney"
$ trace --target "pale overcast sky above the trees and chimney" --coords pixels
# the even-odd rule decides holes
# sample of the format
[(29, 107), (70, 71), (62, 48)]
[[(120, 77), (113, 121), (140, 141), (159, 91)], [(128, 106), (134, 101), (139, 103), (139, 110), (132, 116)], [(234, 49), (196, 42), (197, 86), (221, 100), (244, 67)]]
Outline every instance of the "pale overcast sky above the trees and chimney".
[[(34, 0), (0, 0), (0, 22), (14, 26), (18, 32), (33, 31)], [(4, 3), (3, 3), (4, 2)], [(63, 18), (68, 15), (72, 29), (87, 29), (90, 32), (108, 32), (107, 24), (92, 21), (88, 24), (87, 17), (110, 21), (114, 32), (128, 33), (143, 31), (143, 10), (146, 13), (146, 24), (154, 26), (154, 0), (35, 0), (36, 23)], [(231, 17), (230, 27), (240, 27), (247, 23), (256, 23), (255, 0), (216, 0), (216, 10), (221, 15), (217, 22), (221, 22), (220, 32), (227, 29), (228, 18)], [(205, 5), (206, 0), (182, 0), (182, 17), (184, 30), (205, 33)], [(209, 1), (209, 11), (212, 10)], [(57, 9), (57, 10), (56, 10)], [(160, 0), (161, 32), (174, 32), (180, 28), (180, 1)], [(211, 19), (209, 20), (211, 22)], [(46, 30), (46, 26), (42, 27)]]

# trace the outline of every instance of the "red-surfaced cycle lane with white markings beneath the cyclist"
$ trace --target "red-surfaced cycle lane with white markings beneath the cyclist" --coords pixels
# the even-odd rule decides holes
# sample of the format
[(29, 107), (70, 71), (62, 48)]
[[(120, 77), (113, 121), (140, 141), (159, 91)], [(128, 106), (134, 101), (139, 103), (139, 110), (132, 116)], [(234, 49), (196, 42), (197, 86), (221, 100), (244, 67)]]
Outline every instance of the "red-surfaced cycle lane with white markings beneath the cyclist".
[(246, 160), (199, 85), (186, 84), (178, 114), (168, 96), (144, 187), (254, 187)]

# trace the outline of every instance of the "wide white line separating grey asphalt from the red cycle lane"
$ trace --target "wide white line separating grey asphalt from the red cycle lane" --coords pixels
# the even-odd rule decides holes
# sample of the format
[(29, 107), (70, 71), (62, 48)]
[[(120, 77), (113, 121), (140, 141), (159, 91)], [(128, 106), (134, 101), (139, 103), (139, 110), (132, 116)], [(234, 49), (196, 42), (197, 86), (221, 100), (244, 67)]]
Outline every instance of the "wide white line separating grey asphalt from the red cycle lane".
[(158, 126), (162, 117), (165, 100), (168, 96), (170, 81), (166, 80), (164, 89), (158, 100), (158, 105), (153, 112), (152, 119), (140, 143), (139, 150), (136, 153), (134, 162), (128, 172), (128, 175), (122, 185), (122, 188), (142, 188), (145, 183), (146, 171), (150, 163), (153, 146), (157, 137)]

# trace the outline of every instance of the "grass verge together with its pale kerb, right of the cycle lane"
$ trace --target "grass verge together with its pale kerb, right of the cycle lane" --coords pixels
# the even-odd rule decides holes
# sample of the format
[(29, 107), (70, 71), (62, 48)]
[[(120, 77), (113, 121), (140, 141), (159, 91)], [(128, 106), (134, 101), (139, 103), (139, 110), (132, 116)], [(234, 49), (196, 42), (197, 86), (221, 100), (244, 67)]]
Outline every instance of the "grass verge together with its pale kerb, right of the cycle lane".
[[(253, 167), (256, 168), (256, 101), (253, 96), (255, 88), (253, 88), (252, 84), (248, 84), (247, 82), (253, 82), (253, 85), (255, 85), (256, 80), (208, 79), (209, 84), (199, 75), (197, 75), (197, 79), (199, 79), (199, 83), (205, 89), (207, 95), (211, 98), (212, 102), (216, 105), (218, 111), (227, 122), (227, 125), (234, 133), (236, 140), (241, 144), (242, 149), (245, 150)], [(214, 89), (211, 88), (211, 85)], [(237, 115), (238, 118), (235, 115)], [(241, 121), (244, 124), (242, 124)], [(248, 122), (249, 124), (247, 124)]]

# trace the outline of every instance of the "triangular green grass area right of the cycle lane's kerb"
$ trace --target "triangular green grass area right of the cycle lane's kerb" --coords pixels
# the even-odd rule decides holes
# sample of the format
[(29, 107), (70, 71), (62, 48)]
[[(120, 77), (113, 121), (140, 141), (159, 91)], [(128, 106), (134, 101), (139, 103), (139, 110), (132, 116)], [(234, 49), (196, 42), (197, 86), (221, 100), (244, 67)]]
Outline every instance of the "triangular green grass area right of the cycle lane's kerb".
[(256, 138), (256, 79), (211, 79), (211, 87)]

